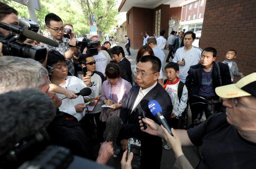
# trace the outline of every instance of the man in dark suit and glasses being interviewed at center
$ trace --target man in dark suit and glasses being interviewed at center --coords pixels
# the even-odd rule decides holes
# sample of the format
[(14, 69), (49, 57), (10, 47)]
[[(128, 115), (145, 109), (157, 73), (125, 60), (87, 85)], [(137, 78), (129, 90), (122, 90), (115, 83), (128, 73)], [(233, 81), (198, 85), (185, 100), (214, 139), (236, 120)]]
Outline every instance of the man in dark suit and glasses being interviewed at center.
[(135, 137), (141, 141), (141, 169), (160, 169), (162, 158), (162, 140), (159, 137), (141, 132), (138, 117), (145, 112), (145, 117), (157, 121), (148, 109), (148, 102), (157, 100), (163, 109), (163, 116), (169, 118), (172, 113), (172, 101), (163, 87), (157, 83), (161, 61), (155, 56), (144, 56), (137, 64), (135, 85), (122, 103), (120, 117), (123, 124), (119, 139), (123, 149), (127, 149), (128, 139)]

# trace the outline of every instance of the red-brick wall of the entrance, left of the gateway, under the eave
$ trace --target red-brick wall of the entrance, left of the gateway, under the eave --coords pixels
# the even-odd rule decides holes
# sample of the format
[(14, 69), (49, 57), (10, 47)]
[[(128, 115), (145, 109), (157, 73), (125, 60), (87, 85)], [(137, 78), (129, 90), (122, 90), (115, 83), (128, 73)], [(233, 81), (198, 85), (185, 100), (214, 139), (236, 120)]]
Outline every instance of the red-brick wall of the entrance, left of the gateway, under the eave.
[[(131, 48), (138, 49), (143, 45), (145, 31), (153, 35), (152, 18), (153, 10), (147, 8), (132, 7), (126, 14), (127, 34), (131, 40)], [(131, 14), (131, 23), (128, 23), (128, 14)], [(141, 33), (143, 32), (143, 35)]]

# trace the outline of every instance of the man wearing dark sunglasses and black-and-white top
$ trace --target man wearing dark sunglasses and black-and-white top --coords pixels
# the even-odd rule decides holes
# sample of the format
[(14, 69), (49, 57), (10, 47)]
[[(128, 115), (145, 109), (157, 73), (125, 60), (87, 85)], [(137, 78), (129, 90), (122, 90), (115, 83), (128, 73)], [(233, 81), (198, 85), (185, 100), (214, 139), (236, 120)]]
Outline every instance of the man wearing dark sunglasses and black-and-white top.
[[(96, 61), (94, 60), (93, 56), (91, 55), (83, 55), (80, 57), (80, 64), (82, 67), (86, 67), (87, 71), (91, 72), (91, 82), (95, 87), (94, 91), (94, 98), (98, 99), (101, 97), (101, 90), (102, 90), (102, 83), (106, 80), (104, 75), (101, 72), (95, 71), (96, 70)], [(102, 112), (102, 101), (99, 100), (96, 106), (94, 107), (93, 111), (88, 114), (88, 120), (94, 122), (96, 121), (97, 125), (97, 138), (99, 143), (103, 141), (103, 132), (104, 132), (104, 123), (99, 120), (99, 115)]]

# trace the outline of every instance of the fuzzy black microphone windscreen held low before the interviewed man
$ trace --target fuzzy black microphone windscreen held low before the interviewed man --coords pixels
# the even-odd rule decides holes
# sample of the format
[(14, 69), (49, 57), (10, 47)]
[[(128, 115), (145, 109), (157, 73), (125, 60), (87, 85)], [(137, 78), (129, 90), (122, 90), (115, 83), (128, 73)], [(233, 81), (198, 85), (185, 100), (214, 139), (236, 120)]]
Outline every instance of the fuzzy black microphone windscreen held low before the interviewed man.
[(111, 116), (107, 121), (106, 129), (103, 137), (106, 141), (116, 141), (119, 135), (120, 129), (122, 128), (122, 119), (119, 116)]

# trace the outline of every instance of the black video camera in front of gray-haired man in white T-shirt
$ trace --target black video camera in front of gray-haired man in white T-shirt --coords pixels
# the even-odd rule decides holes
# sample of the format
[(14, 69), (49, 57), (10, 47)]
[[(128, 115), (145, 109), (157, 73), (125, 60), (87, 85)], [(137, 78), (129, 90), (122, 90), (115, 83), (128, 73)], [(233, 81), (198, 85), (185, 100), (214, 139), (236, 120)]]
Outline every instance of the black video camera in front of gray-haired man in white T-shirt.
[[(96, 46), (100, 45), (100, 41), (99, 40), (95, 40), (90, 42), (90, 40), (87, 37), (84, 37), (84, 39), (82, 41), (77, 41), (76, 42), (76, 47), (80, 48), (81, 53), (83, 53), (84, 48), (87, 48), (86, 54), (90, 55), (90, 56), (94, 56), (98, 54), (98, 49), (95, 48)], [(70, 47), (75, 47), (75, 46), (71, 46)]]

